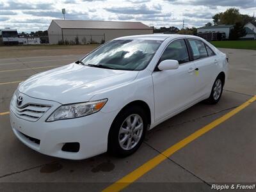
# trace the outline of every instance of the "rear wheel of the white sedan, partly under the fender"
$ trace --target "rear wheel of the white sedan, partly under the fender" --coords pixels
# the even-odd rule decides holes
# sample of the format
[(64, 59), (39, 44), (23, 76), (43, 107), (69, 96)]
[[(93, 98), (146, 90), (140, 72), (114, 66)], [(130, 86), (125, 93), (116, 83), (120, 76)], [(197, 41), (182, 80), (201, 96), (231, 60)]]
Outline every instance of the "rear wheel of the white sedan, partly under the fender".
[(207, 104), (216, 104), (219, 102), (222, 92), (223, 92), (223, 78), (218, 76), (212, 85), (211, 95), (208, 99), (205, 100)]

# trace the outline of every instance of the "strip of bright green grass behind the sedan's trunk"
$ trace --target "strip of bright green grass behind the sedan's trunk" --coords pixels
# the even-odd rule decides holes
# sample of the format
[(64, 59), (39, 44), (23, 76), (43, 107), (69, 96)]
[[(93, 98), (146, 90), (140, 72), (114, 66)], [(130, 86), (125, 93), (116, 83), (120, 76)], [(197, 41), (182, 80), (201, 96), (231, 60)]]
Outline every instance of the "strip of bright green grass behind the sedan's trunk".
[(219, 48), (256, 50), (256, 40), (220, 41), (220, 42), (213, 41), (211, 42), (211, 44)]

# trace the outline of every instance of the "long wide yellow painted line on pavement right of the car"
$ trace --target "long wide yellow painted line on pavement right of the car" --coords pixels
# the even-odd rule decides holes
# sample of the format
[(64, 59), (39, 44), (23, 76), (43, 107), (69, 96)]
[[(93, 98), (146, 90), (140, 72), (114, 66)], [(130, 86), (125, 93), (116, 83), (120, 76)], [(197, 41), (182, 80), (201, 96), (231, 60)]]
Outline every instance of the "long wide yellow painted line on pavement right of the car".
[(220, 118), (214, 120), (208, 125), (205, 125), (205, 127), (202, 127), (198, 131), (194, 132), (193, 134), (189, 135), (187, 138), (184, 138), (184, 140), (179, 141), (175, 145), (172, 145), (172, 147), (167, 148), (162, 152), (161, 154), (157, 155), (153, 159), (150, 159), (147, 161), (145, 164), (141, 165), (139, 168), (136, 170), (132, 171), (128, 175), (125, 175), (122, 179), (116, 181), (115, 183), (111, 184), (108, 186), (108, 188), (104, 189), (103, 191), (121, 191), (122, 189), (126, 188), (129, 186), (132, 182), (135, 180), (139, 179), (141, 176), (143, 176), (145, 173), (149, 172), (152, 170), (154, 167), (157, 166), (157, 164), (161, 163), (168, 157), (172, 156), (177, 150), (180, 150), (180, 148), (185, 147), (191, 141), (196, 140), (196, 138), (199, 138), (203, 134), (205, 134), (208, 131), (211, 131), (214, 127), (220, 125), (221, 123), (225, 122), (228, 118), (232, 117), (242, 109), (246, 108), (248, 105), (250, 105), (252, 102), (256, 100), (256, 95), (249, 99), (248, 101), (244, 102), (241, 104), (241, 106), (238, 106), (237, 108), (233, 109), (232, 111), (226, 113), (225, 115), (221, 116)]

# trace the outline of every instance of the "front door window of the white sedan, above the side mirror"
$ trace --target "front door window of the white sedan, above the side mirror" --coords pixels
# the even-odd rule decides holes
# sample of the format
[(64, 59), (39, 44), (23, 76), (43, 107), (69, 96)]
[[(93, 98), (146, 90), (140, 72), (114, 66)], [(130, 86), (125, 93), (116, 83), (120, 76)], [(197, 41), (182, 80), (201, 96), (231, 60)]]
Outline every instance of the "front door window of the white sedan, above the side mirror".
[(166, 47), (160, 61), (164, 60), (177, 60), (179, 64), (189, 61), (188, 49), (183, 39), (175, 40)]

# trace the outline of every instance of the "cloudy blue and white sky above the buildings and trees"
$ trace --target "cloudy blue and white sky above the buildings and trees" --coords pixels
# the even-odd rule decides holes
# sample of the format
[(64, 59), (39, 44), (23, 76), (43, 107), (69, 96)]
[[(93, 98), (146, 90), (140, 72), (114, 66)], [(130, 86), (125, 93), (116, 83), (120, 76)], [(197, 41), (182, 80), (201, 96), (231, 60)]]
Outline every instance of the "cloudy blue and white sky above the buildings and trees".
[(140, 21), (148, 26), (204, 26), (227, 8), (256, 15), (256, 0), (0, 0), (0, 29), (47, 30), (52, 19)]

